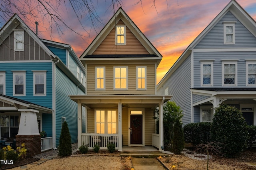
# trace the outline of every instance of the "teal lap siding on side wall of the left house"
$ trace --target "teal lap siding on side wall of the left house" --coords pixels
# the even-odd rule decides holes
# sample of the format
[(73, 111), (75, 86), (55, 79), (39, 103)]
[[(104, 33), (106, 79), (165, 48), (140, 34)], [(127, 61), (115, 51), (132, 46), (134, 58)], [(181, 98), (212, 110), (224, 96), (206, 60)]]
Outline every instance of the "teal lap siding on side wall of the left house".
[(77, 142), (77, 103), (68, 97), (76, 94), (76, 84), (56, 67), (56, 146), (59, 145), (62, 117), (66, 117), (71, 142)]

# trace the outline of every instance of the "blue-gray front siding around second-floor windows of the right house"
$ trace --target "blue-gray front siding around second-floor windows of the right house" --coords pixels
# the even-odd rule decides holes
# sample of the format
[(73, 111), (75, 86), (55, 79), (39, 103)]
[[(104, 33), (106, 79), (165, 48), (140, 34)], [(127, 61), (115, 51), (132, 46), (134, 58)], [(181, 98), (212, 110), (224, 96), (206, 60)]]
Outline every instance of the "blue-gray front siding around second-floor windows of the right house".
[[(237, 61), (237, 87), (246, 87), (246, 60), (255, 60), (256, 51), (249, 52), (194, 52), (194, 88), (201, 86), (200, 77), (200, 60), (213, 61), (213, 87), (220, 88), (222, 86), (222, 61)], [(228, 87), (228, 86), (225, 86)], [(234, 87), (234, 86), (233, 86)]]

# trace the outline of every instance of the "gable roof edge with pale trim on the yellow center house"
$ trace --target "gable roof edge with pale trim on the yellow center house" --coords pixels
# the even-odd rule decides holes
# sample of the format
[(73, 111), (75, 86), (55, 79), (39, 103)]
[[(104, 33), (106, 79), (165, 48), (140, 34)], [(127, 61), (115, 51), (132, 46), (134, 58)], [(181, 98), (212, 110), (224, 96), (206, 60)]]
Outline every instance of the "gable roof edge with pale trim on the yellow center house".
[[(80, 60), (86, 60), (86, 56), (92, 55), (93, 52), (97, 49), (97, 47), (104, 41), (110, 31), (115, 27), (118, 21), (122, 20), (126, 27), (130, 29), (130, 31), (136, 35), (136, 38), (140, 43), (145, 47), (145, 49), (150, 53), (148, 57), (154, 57), (156, 59), (161, 60), (162, 55), (158, 52), (158, 50), (150, 43), (150, 41), (146, 38), (146, 36), (140, 31), (140, 29), (135, 25), (135, 23), (129, 18), (129, 16), (124, 12), (124, 10), (120, 7), (118, 11), (114, 14), (114, 16), (108, 21), (105, 27), (100, 31), (100, 33), (96, 36), (96, 38), (92, 41), (92, 43), (87, 47), (87, 49), (80, 56)], [(100, 56), (90, 56), (92, 57), (100, 57)], [(127, 57), (127, 56), (125, 56)], [(132, 57), (132, 56), (129, 56)], [(106, 59), (106, 57), (104, 57)], [(121, 57), (124, 58), (124, 57)], [(134, 58), (133, 58), (134, 59)], [(159, 61), (160, 62), (160, 61)]]

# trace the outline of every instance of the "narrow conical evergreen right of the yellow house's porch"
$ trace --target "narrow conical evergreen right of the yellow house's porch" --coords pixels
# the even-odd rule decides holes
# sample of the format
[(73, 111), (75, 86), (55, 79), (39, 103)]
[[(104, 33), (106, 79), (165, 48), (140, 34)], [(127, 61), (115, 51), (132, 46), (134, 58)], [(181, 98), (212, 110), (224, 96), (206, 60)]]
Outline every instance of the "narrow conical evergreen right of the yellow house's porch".
[(172, 151), (175, 154), (180, 154), (183, 149), (184, 149), (184, 134), (182, 131), (180, 121), (176, 120), (173, 127)]

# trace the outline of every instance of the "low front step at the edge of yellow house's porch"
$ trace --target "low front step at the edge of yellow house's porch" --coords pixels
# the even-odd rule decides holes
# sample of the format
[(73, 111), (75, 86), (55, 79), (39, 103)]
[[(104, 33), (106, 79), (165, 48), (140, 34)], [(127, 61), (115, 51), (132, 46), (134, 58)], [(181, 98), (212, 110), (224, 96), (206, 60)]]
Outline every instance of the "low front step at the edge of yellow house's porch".
[(162, 152), (129, 152), (129, 151), (122, 151), (120, 152), (120, 156), (131, 156), (134, 158), (155, 158), (158, 156), (169, 156), (169, 154), (165, 154)]

